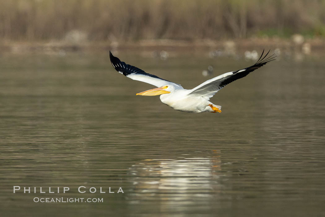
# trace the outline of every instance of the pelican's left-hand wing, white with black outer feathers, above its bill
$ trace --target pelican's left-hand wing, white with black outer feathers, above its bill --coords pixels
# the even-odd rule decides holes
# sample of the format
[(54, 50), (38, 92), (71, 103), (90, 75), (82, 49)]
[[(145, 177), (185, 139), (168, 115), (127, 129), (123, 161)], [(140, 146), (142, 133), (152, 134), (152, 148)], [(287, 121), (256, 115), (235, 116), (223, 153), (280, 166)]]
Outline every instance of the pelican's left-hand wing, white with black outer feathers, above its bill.
[(156, 75), (146, 73), (144, 70), (141, 70), (135, 66), (126, 64), (125, 62), (122, 62), (119, 58), (114, 57), (111, 52), (110, 52), (110, 62), (112, 63), (116, 71), (133, 80), (149, 83), (155, 85), (156, 87), (161, 87), (166, 84), (169, 85), (174, 84), (181, 87), (180, 84), (167, 81), (165, 79), (159, 78)]

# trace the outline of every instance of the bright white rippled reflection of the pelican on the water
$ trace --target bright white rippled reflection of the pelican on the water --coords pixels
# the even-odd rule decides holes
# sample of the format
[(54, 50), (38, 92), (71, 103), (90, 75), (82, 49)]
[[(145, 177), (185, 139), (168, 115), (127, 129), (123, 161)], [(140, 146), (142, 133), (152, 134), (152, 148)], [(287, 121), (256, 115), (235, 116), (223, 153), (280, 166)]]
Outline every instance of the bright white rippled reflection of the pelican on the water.
[[(133, 181), (131, 201), (160, 201), (168, 209), (181, 204), (208, 203), (222, 188), (219, 151), (209, 157), (145, 159), (130, 168)], [(175, 202), (178, 203), (175, 203)], [(207, 205), (207, 204), (206, 204)]]

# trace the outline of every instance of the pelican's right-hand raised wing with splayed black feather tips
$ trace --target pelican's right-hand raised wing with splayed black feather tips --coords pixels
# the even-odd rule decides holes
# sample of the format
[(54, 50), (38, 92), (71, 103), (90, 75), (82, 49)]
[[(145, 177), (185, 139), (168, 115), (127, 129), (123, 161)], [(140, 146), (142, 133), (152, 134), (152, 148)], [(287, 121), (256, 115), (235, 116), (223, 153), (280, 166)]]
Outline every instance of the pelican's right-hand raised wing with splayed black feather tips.
[(207, 80), (201, 83), (199, 86), (191, 89), (188, 95), (202, 96), (207, 100), (209, 100), (216, 92), (218, 92), (221, 88), (226, 86), (228, 83), (243, 78), (246, 75), (248, 75), (250, 72), (254, 71), (255, 69), (258, 69), (261, 66), (265, 65), (266, 63), (275, 60), (276, 57), (274, 56), (275, 54), (266, 58), (269, 52), (270, 51), (268, 51), (267, 54), (262, 58), (264, 54), (264, 50), (263, 50), (261, 57), (257, 60), (257, 62), (253, 66), (247, 67), (242, 70), (227, 72), (217, 77), (214, 77), (210, 80)]

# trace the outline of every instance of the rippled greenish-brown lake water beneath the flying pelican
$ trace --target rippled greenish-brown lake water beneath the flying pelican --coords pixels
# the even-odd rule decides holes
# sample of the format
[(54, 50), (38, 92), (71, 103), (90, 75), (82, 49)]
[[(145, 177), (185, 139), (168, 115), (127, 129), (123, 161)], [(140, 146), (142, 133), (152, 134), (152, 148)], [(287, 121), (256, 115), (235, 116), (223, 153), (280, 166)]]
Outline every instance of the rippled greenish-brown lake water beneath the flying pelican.
[[(114, 55), (186, 89), (211, 78), (208, 65), (217, 76), (253, 64)], [(117, 73), (107, 53), (2, 54), (1, 216), (324, 216), (324, 68), (280, 56), (219, 91), (222, 113), (191, 114), (135, 96), (153, 86)]]

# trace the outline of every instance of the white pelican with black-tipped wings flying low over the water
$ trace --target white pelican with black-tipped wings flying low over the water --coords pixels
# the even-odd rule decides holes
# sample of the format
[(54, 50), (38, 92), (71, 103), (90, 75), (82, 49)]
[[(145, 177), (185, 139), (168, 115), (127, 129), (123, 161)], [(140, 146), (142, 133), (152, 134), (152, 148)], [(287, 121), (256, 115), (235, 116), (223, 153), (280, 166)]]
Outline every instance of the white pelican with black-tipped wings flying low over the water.
[(142, 96), (156, 96), (160, 95), (160, 100), (167, 106), (172, 107), (178, 111), (201, 113), (205, 111), (210, 111), (213, 113), (221, 112), (221, 106), (214, 105), (209, 99), (214, 96), (221, 88), (226, 86), (237, 79), (243, 78), (255, 69), (260, 68), (266, 63), (275, 60), (275, 54), (266, 58), (270, 51), (263, 57), (257, 60), (257, 62), (245, 69), (231, 71), (214, 77), (201, 83), (199, 86), (193, 89), (184, 89), (180, 84), (167, 81), (165, 79), (159, 78), (156, 75), (146, 73), (145, 71), (126, 64), (122, 62), (119, 58), (114, 57), (110, 52), (110, 62), (112, 63), (114, 69), (119, 73), (125, 75), (136, 81), (141, 81), (145, 83), (152, 84), (157, 88), (143, 91), (137, 93), (136, 95)]

